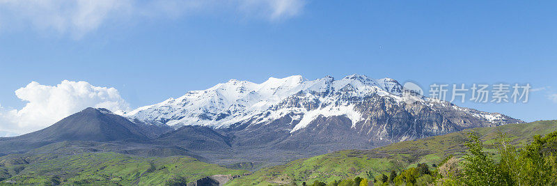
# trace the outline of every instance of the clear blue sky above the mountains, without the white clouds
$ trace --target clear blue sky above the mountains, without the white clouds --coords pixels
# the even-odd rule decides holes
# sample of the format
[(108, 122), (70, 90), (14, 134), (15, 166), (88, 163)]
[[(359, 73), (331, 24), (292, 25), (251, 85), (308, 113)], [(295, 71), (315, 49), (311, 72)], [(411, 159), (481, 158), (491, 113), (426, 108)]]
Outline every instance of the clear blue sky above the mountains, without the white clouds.
[(83, 20), (72, 4), (0, 3), (1, 107), (24, 107), (14, 91), (32, 81), (113, 87), (136, 108), (228, 79), (357, 73), (424, 89), (529, 83), (544, 90), (527, 104), (459, 105), (557, 118), (556, 1), (106, 2)]

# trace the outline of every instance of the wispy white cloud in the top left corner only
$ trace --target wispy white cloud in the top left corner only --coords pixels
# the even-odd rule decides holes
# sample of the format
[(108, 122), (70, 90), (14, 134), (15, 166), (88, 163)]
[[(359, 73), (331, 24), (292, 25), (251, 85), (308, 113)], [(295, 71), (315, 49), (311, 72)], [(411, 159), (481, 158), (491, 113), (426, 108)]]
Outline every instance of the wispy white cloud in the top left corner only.
[(127, 13), (131, 0), (0, 0), (1, 22), (31, 24), (80, 38), (108, 17)]

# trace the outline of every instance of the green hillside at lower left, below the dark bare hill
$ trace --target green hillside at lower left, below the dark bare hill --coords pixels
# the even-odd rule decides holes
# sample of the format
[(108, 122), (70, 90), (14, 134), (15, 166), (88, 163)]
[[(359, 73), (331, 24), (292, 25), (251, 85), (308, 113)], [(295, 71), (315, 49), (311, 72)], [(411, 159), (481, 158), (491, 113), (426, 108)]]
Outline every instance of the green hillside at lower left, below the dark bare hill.
[(119, 153), (84, 153), (27, 163), (17, 155), (1, 157), (3, 183), (24, 185), (164, 185), (189, 183), (217, 174), (246, 171), (199, 162), (192, 157), (136, 157)]

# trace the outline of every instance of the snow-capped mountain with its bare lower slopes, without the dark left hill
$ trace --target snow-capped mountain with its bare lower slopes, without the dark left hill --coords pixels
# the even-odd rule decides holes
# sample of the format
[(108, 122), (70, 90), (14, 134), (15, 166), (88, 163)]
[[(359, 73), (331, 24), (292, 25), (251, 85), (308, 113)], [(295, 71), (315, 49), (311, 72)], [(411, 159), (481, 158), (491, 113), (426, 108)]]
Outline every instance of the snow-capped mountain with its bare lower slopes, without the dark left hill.
[[(334, 150), (366, 149), (470, 127), (522, 123), (503, 114), (407, 96), (394, 79), (349, 75), (309, 81), (301, 76), (256, 84), (230, 80), (204, 91), (141, 107), (125, 114), (135, 123), (207, 127), (222, 134), (227, 153), (246, 160), (308, 157)], [(194, 130), (192, 135), (203, 136)], [(191, 133), (191, 132), (190, 132)], [(190, 133), (187, 133), (188, 135)], [(210, 139), (210, 138), (207, 138)], [(168, 141), (173, 141), (168, 139)], [(180, 140), (173, 141), (180, 145)], [(219, 155), (196, 146), (204, 156)], [(270, 150), (270, 151), (269, 151)], [(294, 154), (292, 154), (294, 153)], [(270, 156), (269, 156), (270, 155)], [(282, 157), (281, 157), (282, 158)]]

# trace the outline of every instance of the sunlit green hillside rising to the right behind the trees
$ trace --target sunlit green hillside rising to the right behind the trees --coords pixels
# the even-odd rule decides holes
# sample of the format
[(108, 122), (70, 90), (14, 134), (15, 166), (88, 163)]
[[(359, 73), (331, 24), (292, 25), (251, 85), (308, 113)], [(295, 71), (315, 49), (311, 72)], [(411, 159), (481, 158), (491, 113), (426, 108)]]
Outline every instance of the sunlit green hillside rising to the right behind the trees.
[(367, 177), (366, 171), (374, 177), (393, 169), (407, 169), (418, 163), (437, 164), (447, 155), (463, 155), (464, 142), (469, 132), (480, 134), (488, 152), (496, 152), (494, 139), (499, 131), (507, 133), (512, 144), (526, 144), (536, 134), (549, 134), (557, 130), (557, 121), (536, 121), (524, 124), (509, 124), (499, 127), (483, 127), (453, 132), (437, 137), (414, 141), (402, 141), (372, 150), (343, 150), (326, 155), (295, 160), (281, 166), (273, 166), (256, 171), (250, 176), (232, 180), (227, 185), (279, 185), (314, 180), (332, 182), (345, 178)]

